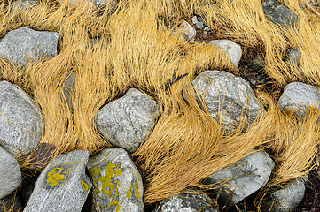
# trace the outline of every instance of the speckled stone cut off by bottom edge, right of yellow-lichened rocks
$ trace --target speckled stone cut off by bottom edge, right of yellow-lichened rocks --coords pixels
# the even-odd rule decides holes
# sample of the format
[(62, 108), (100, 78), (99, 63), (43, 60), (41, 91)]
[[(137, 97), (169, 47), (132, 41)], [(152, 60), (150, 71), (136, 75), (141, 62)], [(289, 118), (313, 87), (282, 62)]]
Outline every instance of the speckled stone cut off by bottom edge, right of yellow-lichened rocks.
[(217, 212), (214, 202), (205, 193), (181, 194), (160, 202), (153, 212)]

